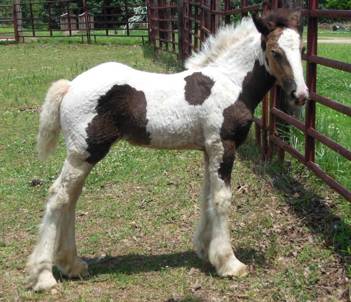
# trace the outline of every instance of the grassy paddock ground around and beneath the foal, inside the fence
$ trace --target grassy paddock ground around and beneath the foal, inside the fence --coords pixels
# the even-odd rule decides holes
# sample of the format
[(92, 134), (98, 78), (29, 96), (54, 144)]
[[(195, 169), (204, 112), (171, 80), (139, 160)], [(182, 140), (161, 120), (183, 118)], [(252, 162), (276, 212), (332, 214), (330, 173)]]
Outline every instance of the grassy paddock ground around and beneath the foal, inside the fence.
[[(42, 162), (36, 155), (39, 109), (50, 83), (111, 60), (152, 72), (181, 69), (174, 57), (156, 57), (140, 40), (67, 40), (0, 46), (0, 300), (347, 301), (350, 208), (301, 166), (257, 160), (252, 134), (234, 163), (230, 218), (235, 254), (250, 267), (247, 277), (218, 278), (195, 256), (201, 153), (121, 142), (95, 167), (78, 201), (78, 251), (91, 278), (70, 281), (54, 269), (57, 295), (28, 290), (25, 262), (47, 189), (65, 158), (62, 137), (53, 158)], [(42, 184), (30, 185), (34, 179)], [(195, 292), (194, 283), (201, 285)]]

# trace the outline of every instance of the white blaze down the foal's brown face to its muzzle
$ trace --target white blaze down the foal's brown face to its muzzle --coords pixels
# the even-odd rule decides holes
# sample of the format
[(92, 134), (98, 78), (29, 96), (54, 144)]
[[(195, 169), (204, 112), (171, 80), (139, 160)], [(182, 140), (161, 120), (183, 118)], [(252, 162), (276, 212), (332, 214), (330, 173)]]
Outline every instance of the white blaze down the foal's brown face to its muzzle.
[(282, 50), (284, 50), (285, 55), (292, 68), (294, 81), (297, 86), (296, 97), (299, 100), (303, 100), (308, 97), (308, 88), (305, 84), (305, 80), (303, 77), (300, 39), (301, 37), (296, 31), (287, 28), (284, 29), (282, 34), (280, 35), (278, 39), (278, 45)]

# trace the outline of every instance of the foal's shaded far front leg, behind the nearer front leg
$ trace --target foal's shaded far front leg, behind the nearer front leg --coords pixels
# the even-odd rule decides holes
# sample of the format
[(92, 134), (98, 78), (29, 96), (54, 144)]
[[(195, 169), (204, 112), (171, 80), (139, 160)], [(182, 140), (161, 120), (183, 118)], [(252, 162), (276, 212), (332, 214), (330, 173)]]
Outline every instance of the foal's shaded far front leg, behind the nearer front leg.
[(203, 162), (205, 170), (200, 194), (200, 221), (194, 233), (194, 245), (197, 256), (203, 260), (208, 260), (208, 246), (211, 241), (211, 221), (208, 215), (210, 175), (209, 157), (206, 151), (203, 153)]

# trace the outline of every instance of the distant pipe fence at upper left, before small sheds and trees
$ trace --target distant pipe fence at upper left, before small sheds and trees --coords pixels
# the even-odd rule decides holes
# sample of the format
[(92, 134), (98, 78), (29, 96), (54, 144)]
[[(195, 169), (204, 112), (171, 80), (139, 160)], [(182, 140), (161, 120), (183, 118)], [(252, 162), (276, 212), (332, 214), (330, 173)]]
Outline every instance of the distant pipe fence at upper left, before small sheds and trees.
[[(0, 38), (149, 37), (146, 0), (120, 5), (90, 5), (89, 0), (54, 0), (0, 5)], [(141, 9), (140, 9), (141, 8)], [(8, 16), (8, 20), (2, 17)], [(9, 32), (4, 32), (8, 28)]]

